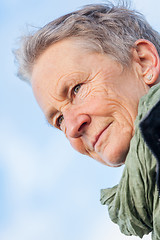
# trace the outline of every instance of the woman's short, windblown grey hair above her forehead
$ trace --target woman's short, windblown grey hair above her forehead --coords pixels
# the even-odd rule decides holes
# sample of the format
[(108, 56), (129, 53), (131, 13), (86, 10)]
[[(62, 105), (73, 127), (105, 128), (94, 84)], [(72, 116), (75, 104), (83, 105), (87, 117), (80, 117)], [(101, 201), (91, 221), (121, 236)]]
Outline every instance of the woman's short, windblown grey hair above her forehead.
[(160, 55), (160, 35), (144, 16), (127, 6), (91, 4), (66, 14), (23, 36), (15, 50), (18, 76), (30, 80), (38, 57), (52, 44), (67, 38), (78, 39), (88, 50), (113, 56), (123, 66), (129, 66), (138, 39), (151, 41)]

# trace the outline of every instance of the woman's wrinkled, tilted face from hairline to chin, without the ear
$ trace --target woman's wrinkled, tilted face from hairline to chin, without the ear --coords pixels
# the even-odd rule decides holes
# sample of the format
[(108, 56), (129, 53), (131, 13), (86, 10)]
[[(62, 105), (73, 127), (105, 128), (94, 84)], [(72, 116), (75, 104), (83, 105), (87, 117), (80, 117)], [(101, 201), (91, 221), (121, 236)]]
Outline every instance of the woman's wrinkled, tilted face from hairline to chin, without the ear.
[(73, 148), (109, 166), (125, 162), (140, 98), (148, 91), (139, 65), (128, 70), (74, 40), (49, 47), (32, 72), (35, 97), (49, 123)]

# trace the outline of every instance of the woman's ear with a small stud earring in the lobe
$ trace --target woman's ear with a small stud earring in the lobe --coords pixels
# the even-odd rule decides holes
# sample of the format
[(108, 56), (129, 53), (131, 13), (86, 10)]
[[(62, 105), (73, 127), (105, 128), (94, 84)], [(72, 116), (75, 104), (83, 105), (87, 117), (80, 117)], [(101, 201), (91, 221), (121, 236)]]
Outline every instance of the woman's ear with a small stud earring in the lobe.
[(145, 39), (135, 42), (133, 58), (140, 65), (141, 75), (147, 85), (154, 85), (160, 74), (160, 59), (153, 43)]

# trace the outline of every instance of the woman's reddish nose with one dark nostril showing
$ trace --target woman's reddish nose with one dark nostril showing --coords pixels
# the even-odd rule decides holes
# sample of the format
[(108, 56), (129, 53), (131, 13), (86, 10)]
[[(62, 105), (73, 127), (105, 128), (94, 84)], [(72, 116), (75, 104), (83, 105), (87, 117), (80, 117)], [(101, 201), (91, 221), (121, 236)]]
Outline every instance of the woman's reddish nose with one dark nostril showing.
[(88, 114), (79, 113), (76, 110), (66, 111), (63, 113), (63, 116), (66, 135), (71, 138), (78, 138), (84, 135), (91, 123), (91, 118)]

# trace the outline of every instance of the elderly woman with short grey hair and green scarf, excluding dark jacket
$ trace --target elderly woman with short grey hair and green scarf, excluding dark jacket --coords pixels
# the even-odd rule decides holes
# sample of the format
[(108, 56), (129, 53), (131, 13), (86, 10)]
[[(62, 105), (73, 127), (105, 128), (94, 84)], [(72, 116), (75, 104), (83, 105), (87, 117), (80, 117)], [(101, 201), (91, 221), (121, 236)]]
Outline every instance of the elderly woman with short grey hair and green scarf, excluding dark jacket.
[(82, 154), (118, 167), (101, 202), (122, 233), (160, 239), (156, 159), (139, 122), (160, 97), (160, 36), (124, 6), (89, 5), (22, 38), (19, 76)]

